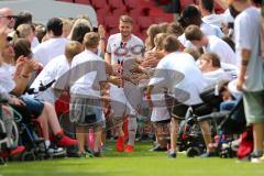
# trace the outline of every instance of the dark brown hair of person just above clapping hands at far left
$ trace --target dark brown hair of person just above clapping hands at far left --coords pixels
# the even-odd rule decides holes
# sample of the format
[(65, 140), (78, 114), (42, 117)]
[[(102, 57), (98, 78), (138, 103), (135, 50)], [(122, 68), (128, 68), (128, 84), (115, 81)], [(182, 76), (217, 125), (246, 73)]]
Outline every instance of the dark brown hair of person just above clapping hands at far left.
[(13, 45), (14, 48), (14, 59), (16, 61), (20, 56), (31, 57), (31, 43), (25, 38), (18, 38)]

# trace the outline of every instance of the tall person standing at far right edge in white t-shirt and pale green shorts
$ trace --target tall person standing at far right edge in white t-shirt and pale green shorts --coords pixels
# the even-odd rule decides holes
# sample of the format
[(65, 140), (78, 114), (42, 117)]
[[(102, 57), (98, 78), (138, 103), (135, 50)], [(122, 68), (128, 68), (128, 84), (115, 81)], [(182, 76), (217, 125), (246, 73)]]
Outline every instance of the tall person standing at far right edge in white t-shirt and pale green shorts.
[(264, 141), (264, 67), (260, 54), (261, 13), (250, 0), (229, 0), (241, 13), (234, 20), (235, 53), (240, 61), (237, 88), (244, 92), (246, 123), (253, 125), (252, 163), (263, 163)]

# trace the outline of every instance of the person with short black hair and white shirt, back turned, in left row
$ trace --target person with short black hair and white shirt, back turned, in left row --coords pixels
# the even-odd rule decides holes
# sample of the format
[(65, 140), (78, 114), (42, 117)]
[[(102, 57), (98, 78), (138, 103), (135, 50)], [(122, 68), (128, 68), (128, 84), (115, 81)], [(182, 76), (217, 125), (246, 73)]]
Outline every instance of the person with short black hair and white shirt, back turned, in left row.
[(65, 53), (68, 40), (63, 37), (63, 22), (58, 18), (50, 19), (47, 24), (48, 40), (33, 50), (34, 58), (45, 66), (51, 59)]

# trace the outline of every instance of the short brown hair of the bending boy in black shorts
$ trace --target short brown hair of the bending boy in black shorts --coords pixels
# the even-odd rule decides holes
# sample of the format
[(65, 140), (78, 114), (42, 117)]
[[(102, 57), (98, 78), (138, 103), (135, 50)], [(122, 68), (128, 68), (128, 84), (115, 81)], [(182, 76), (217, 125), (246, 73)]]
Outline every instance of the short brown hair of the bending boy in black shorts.
[(164, 38), (163, 46), (166, 52), (173, 53), (178, 51), (179, 41), (175, 35), (170, 34)]

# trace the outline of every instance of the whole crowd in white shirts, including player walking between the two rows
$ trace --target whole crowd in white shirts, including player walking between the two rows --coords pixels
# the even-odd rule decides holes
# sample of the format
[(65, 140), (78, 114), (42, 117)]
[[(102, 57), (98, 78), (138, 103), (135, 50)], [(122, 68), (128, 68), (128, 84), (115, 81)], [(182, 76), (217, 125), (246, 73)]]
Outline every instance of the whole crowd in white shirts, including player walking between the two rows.
[[(44, 151), (53, 154), (78, 146), (72, 150), (78, 157), (86, 155), (91, 133), (89, 151), (100, 157), (106, 132), (112, 129), (118, 152), (136, 152), (138, 119), (145, 116), (155, 129), (152, 151), (167, 151), (175, 158), (187, 110), (204, 103), (205, 88), (224, 80), (230, 84), (224, 85), (220, 109), (243, 97), (246, 123), (253, 127), (251, 162), (263, 162), (262, 13), (251, 0), (228, 3), (223, 14), (215, 13), (213, 0), (187, 6), (174, 22), (152, 24), (145, 41), (132, 34), (129, 15), (120, 16), (120, 33), (107, 40), (103, 26), (94, 31), (85, 15), (53, 18), (43, 25), (29, 12), (14, 15), (9, 8), (0, 9), (0, 105), (12, 144), (9, 154), (25, 150), (12, 140), (10, 121), (18, 111), (23, 123), (38, 121)], [(62, 113), (68, 113), (73, 139), (59, 124)], [(196, 111), (198, 117), (207, 113)], [(161, 124), (169, 127), (169, 142), (160, 132)], [(215, 156), (209, 121), (199, 127), (206, 144), (201, 156)]]

